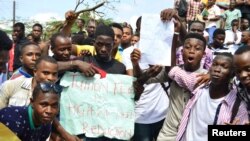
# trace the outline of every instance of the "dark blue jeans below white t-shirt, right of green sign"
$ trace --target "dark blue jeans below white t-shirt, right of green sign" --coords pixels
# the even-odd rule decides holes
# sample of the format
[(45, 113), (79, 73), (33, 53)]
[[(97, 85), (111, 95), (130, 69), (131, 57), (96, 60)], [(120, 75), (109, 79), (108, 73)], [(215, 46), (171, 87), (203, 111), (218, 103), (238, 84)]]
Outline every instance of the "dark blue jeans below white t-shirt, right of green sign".
[(135, 123), (134, 141), (153, 141), (162, 128), (164, 120), (151, 124)]

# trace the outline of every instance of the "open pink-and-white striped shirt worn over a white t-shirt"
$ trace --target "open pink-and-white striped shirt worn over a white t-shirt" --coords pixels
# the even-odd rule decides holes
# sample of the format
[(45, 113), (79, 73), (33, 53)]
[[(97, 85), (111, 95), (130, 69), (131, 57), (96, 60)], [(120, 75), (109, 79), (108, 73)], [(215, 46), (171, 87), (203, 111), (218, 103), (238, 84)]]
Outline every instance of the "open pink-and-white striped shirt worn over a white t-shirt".
[[(186, 131), (186, 127), (189, 121), (189, 115), (191, 112), (191, 109), (195, 106), (198, 98), (201, 96), (202, 91), (204, 89), (209, 90), (208, 88), (204, 87), (204, 86), (200, 86), (198, 88), (195, 88), (195, 84), (196, 84), (196, 73), (187, 73), (184, 70), (182, 70), (180, 67), (174, 67), (173, 69), (171, 69), (171, 71), (169, 72), (169, 77), (171, 79), (173, 79), (174, 81), (176, 81), (181, 87), (187, 88), (190, 91), (192, 91), (193, 93), (193, 97), (188, 101), (184, 113), (183, 113), (183, 117), (181, 119), (180, 122), (180, 126), (178, 129), (178, 133), (177, 133), (177, 137), (176, 140), (179, 141), (185, 131)], [(231, 118), (231, 114), (232, 114), (232, 108), (234, 105), (234, 102), (236, 100), (236, 93), (237, 91), (235, 89), (232, 89), (225, 97), (224, 100), (222, 100), (222, 104), (219, 109), (218, 115), (215, 115), (215, 117), (217, 116), (217, 122), (215, 124), (220, 124), (223, 125), (225, 124), (225, 122), (230, 122), (230, 118)], [(245, 103), (241, 102), (238, 113), (236, 115), (235, 118), (239, 119), (239, 124), (245, 124), (246, 121), (248, 121), (248, 114), (247, 114), (247, 109), (246, 109), (246, 105)]]

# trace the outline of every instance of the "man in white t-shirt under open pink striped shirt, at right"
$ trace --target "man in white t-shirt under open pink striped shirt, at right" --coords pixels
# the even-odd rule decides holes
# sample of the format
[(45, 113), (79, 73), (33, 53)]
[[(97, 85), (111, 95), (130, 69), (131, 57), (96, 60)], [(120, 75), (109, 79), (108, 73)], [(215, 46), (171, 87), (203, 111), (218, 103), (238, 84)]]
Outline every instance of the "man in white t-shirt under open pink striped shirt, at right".
[[(185, 107), (178, 128), (176, 138), (178, 141), (204, 141), (208, 137), (208, 125), (226, 123), (243, 125), (248, 121), (245, 103), (237, 98), (235, 87), (230, 87), (230, 80), (234, 76), (233, 55), (230, 53), (217, 55), (209, 73), (211, 82), (196, 88), (198, 79), (196, 73), (187, 73), (180, 67), (174, 67), (169, 72), (171, 79), (193, 94)], [(237, 101), (239, 105), (235, 104)], [(236, 105), (238, 110), (234, 112)], [(204, 114), (204, 111), (209, 114)]]

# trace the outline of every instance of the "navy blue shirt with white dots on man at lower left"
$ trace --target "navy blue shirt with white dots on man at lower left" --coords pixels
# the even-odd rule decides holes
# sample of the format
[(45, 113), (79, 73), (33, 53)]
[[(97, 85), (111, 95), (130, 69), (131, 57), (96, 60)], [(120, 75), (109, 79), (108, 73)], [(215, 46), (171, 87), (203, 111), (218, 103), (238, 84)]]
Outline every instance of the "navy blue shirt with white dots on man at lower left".
[(46, 141), (51, 132), (51, 124), (35, 127), (32, 113), (31, 106), (6, 107), (0, 110), (0, 122), (22, 141)]

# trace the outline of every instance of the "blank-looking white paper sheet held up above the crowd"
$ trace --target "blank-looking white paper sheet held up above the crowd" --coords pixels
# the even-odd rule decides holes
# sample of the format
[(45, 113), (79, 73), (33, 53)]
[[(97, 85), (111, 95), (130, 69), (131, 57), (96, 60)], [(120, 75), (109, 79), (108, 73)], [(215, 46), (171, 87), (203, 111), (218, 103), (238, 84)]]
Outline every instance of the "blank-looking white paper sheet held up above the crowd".
[(171, 65), (173, 21), (163, 22), (160, 14), (142, 15), (139, 49), (141, 62), (151, 65)]

